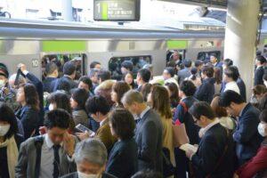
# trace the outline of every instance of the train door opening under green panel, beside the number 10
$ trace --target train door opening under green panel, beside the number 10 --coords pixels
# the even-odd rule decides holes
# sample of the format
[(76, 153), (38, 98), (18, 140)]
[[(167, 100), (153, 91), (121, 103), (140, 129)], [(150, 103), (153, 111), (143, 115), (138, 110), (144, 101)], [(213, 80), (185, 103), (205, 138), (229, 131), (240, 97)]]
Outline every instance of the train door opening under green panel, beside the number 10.
[(70, 54), (47, 54), (42, 58), (42, 79), (46, 77), (45, 67), (49, 62), (54, 62), (59, 69), (59, 77), (63, 76), (63, 66), (68, 61), (73, 61), (77, 66), (75, 80), (85, 75), (85, 59), (86, 55), (83, 53), (70, 53)]

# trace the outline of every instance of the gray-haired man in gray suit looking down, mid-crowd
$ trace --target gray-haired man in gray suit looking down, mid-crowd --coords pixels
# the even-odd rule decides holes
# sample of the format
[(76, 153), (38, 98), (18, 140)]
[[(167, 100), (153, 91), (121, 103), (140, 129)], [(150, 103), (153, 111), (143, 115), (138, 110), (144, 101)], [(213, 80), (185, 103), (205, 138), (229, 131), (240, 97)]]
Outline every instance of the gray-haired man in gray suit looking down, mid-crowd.
[(158, 114), (143, 101), (142, 94), (130, 90), (122, 102), (138, 117), (135, 142), (138, 146), (138, 170), (162, 172), (162, 124)]

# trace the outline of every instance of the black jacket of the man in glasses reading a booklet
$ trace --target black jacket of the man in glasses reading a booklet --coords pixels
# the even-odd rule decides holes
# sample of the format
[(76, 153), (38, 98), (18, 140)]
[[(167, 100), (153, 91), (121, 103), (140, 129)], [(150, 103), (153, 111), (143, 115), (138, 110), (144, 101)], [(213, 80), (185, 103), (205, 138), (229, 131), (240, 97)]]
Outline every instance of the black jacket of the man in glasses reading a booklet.
[[(226, 145), (228, 148), (223, 156)], [(213, 125), (202, 137), (198, 151), (191, 161), (198, 178), (207, 175), (214, 178), (231, 178), (234, 172), (235, 151), (230, 132), (227, 134), (227, 130), (220, 124)]]

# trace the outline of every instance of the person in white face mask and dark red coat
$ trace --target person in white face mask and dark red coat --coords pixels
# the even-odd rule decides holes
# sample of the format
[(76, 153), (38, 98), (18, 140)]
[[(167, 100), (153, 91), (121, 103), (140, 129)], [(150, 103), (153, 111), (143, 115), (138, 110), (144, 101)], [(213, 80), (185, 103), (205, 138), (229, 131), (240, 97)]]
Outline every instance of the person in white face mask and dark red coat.
[(261, 113), (260, 120), (258, 132), (264, 137), (262, 145), (254, 158), (239, 167), (236, 177), (267, 177), (267, 109)]

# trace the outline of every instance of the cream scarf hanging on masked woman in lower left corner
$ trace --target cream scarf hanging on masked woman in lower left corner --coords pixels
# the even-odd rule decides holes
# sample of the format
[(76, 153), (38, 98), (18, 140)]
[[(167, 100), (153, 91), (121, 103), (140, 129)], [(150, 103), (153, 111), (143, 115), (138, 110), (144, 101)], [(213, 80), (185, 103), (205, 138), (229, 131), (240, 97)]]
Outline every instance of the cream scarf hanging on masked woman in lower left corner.
[(14, 166), (18, 163), (19, 150), (14, 136), (10, 139), (6, 139), (5, 142), (0, 143), (0, 148), (6, 148), (8, 172), (11, 178), (15, 177)]

